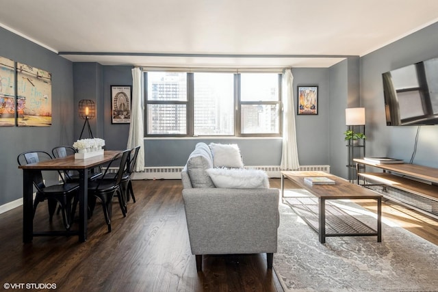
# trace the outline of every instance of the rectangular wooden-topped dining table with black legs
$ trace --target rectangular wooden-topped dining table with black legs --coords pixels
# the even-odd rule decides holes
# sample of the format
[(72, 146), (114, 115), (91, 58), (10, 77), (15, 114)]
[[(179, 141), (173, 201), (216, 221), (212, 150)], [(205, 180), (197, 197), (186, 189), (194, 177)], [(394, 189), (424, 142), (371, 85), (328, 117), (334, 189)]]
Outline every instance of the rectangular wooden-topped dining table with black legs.
[[(79, 235), (79, 241), (85, 242), (87, 240), (88, 220), (88, 170), (111, 161), (114, 155), (119, 152), (119, 150), (105, 150), (103, 155), (87, 159), (75, 159), (74, 155), (69, 155), (18, 166), (23, 170), (23, 243), (31, 242), (35, 236), (47, 235)], [(79, 172), (79, 230), (34, 232), (33, 178), (34, 173), (40, 170), (75, 170)]]

